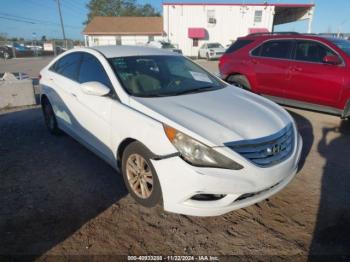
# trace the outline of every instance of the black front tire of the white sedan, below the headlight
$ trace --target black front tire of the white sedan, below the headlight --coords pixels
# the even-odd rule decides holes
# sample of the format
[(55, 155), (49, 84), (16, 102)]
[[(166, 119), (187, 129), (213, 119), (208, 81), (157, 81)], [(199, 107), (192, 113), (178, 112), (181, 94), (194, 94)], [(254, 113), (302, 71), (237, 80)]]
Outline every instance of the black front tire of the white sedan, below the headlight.
[[(130, 171), (127, 171), (127, 163), (128, 161), (133, 161), (132, 158), (135, 155), (141, 156), (146, 162), (145, 165), (147, 164), (149, 171), (152, 173), (152, 180), (153, 184), (151, 186), (150, 183), (147, 183), (147, 186), (151, 186), (151, 193), (147, 198), (142, 198), (140, 197), (137, 193), (138, 189), (133, 189), (131, 186), (132, 182), (129, 182), (129, 177), (128, 174), (130, 175)], [(130, 195), (141, 205), (145, 207), (153, 207), (156, 206), (158, 203), (162, 203), (162, 190), (160, 187), (159, 179), (157, 176), (157, 173), (152, 165), (152, 162), (150, 159), (152, 158), (152, 153), (140, 142), (132, 142), (127, 146), (127, 148), (123, 152), (122, 156), (122, 173), (123, 173), (123, 178), (125, 185), (130, 193)], [(138, 176), (141, 176), (141, 174), (138, 174)], [(137, 184), (137, 183), (135, 183)], [(141, 182), (139, 182), (139, 187), (141, 190)]]

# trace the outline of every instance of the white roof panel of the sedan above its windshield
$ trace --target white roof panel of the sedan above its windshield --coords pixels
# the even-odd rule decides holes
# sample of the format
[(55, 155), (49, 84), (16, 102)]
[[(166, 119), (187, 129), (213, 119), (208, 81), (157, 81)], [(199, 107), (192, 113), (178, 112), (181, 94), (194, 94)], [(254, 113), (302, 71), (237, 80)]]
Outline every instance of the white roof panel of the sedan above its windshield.
[(128, 45), (109, 45), (90, 47), (102, 53), (107, 58), (126, 57), (126, 56), (144, 56), (144, 55), (174, 55), (181, 56), (178, 53), (167, 51), (165, 49), (146, 46), (128, 46)]

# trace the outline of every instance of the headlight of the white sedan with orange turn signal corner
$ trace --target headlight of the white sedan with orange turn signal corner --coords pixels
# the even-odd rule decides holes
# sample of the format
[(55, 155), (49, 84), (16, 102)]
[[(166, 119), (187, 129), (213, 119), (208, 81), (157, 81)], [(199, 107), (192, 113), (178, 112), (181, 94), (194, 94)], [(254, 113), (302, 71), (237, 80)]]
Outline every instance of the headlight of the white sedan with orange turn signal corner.
[(243, 166), (226, 156), (216, 152), (212, 148), (202, 144), (201, 142), (181, 133), (167, 125), (164, 131), (170, 142), (176, 147), (181, 157), (194, 166), (217, 167), (239, 170)]

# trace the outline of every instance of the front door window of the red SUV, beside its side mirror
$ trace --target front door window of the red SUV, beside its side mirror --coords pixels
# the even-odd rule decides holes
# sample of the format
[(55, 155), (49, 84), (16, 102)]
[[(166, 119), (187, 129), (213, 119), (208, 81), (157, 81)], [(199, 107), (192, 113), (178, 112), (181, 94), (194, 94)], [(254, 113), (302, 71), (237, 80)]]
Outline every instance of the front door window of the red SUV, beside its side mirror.
[(327, 55), (336, 55), (331, 49), (315, 41), (298, 41), (295, 50), (295, 59), (322, 63)]

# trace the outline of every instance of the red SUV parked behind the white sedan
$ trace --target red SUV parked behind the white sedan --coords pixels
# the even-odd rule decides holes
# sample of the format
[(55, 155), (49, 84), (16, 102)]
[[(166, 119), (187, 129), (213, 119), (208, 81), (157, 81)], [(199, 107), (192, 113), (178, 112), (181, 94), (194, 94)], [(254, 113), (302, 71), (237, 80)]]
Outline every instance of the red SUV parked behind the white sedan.
[(350, 41), (251, 34), (221, 57), (221, 77), (277, 103), (350, 117)]

